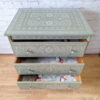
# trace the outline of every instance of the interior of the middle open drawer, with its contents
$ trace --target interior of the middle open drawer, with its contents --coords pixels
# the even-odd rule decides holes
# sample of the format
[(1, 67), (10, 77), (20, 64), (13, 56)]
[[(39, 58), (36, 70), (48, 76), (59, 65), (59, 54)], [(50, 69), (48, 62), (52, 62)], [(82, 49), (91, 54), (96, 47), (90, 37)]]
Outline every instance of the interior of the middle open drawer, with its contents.
[(16, 63), (83, 63), (83, 58), (71, 57), (18, 57)]

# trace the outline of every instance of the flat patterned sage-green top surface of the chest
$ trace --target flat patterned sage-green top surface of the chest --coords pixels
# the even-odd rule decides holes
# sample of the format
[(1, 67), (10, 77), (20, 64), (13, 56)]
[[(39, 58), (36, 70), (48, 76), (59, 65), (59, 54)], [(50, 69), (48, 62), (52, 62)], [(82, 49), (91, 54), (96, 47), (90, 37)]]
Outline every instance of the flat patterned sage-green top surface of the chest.
[(5, 35), (90, 36), (93, 32), (79, 9), (22, 8)]

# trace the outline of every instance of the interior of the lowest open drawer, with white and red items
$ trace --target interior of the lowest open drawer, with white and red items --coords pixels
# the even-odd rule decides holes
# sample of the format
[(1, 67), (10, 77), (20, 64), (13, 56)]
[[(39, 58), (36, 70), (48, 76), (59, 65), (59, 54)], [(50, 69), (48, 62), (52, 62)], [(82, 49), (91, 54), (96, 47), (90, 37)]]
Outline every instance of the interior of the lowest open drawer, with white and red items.
[(20, 75), (18, 82), (81, 82), (80, 75), (71, 76), (66, 74), (56, 75)]

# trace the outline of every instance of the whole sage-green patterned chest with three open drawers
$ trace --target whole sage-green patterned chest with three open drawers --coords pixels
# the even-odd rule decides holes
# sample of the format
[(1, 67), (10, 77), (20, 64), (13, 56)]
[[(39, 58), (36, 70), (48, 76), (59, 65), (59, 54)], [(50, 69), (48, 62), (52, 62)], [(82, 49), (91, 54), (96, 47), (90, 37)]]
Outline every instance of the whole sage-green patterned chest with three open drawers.
[[(22, 8), (5, 32), (22, 89), (78, 89), (84, 52), (93, 32), (78, 9)], [(62, 58), (64, 62), (55, 59)], [(73, 76), (76, 81), (36, 81), (39, 75)]]

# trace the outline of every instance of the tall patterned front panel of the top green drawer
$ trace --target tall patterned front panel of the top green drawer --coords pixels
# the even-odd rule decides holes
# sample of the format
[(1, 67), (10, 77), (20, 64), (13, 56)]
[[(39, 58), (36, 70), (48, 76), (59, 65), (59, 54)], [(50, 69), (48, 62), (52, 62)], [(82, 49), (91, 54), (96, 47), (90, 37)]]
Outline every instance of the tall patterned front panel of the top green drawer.
[(18, 57), (81, 57), (87, 46), (87, 42), (12, 42), (11, 44), (14, 54)]

